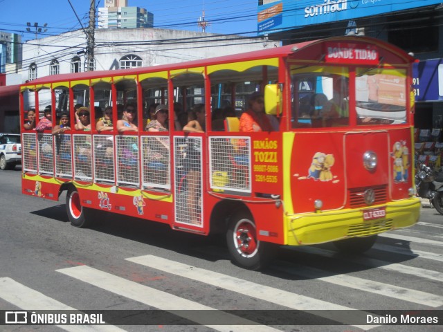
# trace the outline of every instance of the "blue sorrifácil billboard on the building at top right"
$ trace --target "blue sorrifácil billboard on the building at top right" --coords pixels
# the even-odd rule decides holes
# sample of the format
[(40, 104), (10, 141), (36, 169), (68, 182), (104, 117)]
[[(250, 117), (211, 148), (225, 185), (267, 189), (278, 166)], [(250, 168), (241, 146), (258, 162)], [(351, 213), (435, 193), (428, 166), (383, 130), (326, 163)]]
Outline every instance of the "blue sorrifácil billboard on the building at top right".
[(259, 0), (259, 35), (440, 4), (442, 0)]

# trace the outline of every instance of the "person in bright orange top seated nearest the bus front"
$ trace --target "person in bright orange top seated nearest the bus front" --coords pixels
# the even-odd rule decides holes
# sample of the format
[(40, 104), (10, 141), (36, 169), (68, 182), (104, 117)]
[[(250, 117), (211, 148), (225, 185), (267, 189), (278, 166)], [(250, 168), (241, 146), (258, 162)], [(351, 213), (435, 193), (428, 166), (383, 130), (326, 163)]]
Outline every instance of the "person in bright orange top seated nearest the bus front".
[(271, 121), (264, 113), (264, 96), (254, 92), (248, 100), (248, 109), (240, 117), (239, 131), (273, 131)]

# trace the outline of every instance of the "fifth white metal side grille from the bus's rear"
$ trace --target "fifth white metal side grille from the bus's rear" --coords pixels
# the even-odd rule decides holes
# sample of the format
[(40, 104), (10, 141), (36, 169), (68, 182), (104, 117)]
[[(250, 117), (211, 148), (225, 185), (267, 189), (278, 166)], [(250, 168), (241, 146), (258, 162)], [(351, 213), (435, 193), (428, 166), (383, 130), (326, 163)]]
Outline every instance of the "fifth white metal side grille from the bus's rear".
[(94, 181), (115, 181), (114, 136), (94, 135)]

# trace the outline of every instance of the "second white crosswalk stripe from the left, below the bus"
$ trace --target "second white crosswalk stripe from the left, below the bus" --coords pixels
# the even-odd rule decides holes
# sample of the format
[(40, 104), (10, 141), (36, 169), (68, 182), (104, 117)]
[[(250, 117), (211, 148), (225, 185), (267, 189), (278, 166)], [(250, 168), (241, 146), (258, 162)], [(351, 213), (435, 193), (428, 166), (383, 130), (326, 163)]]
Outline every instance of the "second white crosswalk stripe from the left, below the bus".
[[(215, 310), (204, 304), (183, 299), (182, 297), (159, 291), (155, 288), (143, 286), (136, 282), (111, 275), (89, 266), (74, 266), (72, 268), (62, 268), (56, 270), (57, 272), (68, 275), (82, 282), (86, 282), (98, 288), (105, 289), (112, 293), (134, 299), (137, 302), (147, 304), (154, 308), (159, 308), (164, 311), (174, 311), (174, 314), (181, 315), (192, 322), (202, 322), (202, 313), (199, 311)], [(253, 325), (255, 323), (245, 320), (241, 317), (217, 311), (215, 319), (219, 322), (232, 322), (232, 325), (206, 325), (211, 329), (221, 332), (235, 331), (241, 328), (242, 331), (279, 331), (264, 325)], [(240, 326), (241, 325), (241, 326)], [(240, 326), (240, 327), (239, 327)]]

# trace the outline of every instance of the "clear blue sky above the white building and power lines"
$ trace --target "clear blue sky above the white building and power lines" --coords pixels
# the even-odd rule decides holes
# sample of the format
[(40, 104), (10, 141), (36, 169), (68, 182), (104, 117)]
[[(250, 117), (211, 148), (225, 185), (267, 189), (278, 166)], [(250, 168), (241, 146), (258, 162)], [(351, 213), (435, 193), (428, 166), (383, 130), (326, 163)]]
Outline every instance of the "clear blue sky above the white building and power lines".
[[(201, 31), (197, 20), (205, 11), (210, 23), (207, 33), (256, 35), (257, 0), (128, 0), (128, 6), (141, 7), (154, 14), (154, 28)], [(84, 27), (89, 22), (91, 0), (71, 0)], [(105, 0), (96, 0), (96, 8)], [(0, 0), (0, 30), (22, 35), (22, 41), (35, 39), (37, 22), (42, 33), (37, 37), (78, 30), (80, 23), (69, 0)], [(98, 10), (97, 10), (98, 12)], [(30, 33), (26, 23), (30, 22)], [(44, 24), (46, 33), (43, 31)]]

